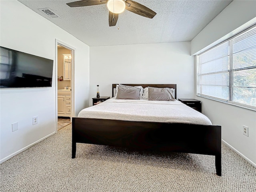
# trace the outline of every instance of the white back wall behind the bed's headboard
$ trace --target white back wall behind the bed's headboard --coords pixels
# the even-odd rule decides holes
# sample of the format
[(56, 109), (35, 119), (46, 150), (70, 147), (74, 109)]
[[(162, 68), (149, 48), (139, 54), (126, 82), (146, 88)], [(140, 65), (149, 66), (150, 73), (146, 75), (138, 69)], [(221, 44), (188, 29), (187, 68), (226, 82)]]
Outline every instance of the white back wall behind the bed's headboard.
[(100, 96), (111, 97), (114, 83), (177, 84), (177, 98), (193, 98), (190, 42), (90, 47), (90, 98), (97, 84)]

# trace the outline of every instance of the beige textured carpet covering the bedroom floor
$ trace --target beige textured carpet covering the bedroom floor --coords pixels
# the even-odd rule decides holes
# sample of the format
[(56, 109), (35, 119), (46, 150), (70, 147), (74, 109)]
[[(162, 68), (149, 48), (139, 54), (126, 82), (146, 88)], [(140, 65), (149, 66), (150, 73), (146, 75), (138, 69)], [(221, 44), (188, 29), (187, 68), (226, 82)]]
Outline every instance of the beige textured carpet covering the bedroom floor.
[(255, 192), (256, 169), (222, 144), (214, 157), (78, 144), (71, 124), (0, 164), (1, 192)]

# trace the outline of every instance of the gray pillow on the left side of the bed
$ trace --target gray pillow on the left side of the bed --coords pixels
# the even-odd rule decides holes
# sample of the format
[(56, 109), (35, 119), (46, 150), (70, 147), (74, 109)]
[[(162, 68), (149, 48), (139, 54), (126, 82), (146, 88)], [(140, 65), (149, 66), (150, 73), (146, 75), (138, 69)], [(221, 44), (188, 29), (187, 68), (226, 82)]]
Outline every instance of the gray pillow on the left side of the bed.
[(116, 99), (140, 99), (140, 88), (119, 87)]

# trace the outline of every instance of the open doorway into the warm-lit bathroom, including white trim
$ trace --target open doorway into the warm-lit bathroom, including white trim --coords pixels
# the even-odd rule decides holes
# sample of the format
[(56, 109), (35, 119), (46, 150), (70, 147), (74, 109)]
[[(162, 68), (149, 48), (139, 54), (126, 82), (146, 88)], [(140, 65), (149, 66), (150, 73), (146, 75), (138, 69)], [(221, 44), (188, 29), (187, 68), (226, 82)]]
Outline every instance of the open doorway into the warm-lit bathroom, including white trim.
[(56, 132), (72, 122), (74, 112), (74, 48), (56, 40)]

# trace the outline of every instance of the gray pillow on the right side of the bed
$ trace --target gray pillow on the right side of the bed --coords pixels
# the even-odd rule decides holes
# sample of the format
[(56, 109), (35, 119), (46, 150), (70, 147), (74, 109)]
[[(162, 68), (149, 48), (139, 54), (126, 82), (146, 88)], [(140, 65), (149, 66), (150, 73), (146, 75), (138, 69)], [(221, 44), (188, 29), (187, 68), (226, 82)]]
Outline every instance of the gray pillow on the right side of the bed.
[(148, 87), (148, 100), (175, 101), (172, 88)]

